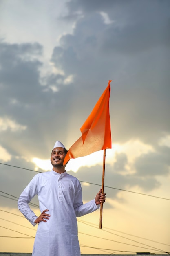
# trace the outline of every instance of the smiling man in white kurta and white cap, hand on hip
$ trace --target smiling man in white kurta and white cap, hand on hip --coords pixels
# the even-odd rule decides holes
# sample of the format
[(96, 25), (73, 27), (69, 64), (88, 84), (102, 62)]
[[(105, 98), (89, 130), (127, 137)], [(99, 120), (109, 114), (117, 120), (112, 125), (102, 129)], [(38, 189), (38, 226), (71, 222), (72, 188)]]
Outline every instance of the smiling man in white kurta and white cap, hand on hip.
[[(97, 210), (105, 202), (102, 189), (95, 199), (83, 204), (82, 188), (77, 178), (69, 175), (64, 158), (67, 150), (56, 141), (52, 153), (52, 171), (38, 173), (18, 199), (18, 209), (33, 226), (38, 223), (32, 256), (80, 256), (77, 217)], [(40, 216), (29, 202), (38, 195)]]

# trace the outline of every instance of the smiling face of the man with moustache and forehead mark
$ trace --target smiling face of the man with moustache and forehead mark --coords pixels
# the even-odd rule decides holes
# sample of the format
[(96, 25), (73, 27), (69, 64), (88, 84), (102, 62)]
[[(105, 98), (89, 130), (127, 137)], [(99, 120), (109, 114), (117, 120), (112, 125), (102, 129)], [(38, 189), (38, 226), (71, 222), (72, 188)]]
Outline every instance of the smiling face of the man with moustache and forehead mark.
[(51, 153), (51, 164), (54, 167), (63, 166), (65, 156), (66, 156), (66, 154), (64, 153), (63, 148), (54, 148)]

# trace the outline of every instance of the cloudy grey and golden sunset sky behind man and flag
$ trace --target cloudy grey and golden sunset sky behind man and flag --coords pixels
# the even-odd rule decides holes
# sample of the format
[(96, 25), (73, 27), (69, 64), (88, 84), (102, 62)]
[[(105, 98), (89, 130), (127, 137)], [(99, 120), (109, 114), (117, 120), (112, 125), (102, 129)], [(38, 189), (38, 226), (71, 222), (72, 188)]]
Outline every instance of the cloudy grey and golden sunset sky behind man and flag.
[[(77, 218), (81, 253), (170, 252), (169, 70), (169, 0), (0, 0), (0, 252), (32, 252), (36, 227), (17, 198), (52, 169), (55, 141), (81, 136), (108, 80), (102, 229), (99, 210)], [(102, 164), (99, 151), (66, 166), (83, 202)]]

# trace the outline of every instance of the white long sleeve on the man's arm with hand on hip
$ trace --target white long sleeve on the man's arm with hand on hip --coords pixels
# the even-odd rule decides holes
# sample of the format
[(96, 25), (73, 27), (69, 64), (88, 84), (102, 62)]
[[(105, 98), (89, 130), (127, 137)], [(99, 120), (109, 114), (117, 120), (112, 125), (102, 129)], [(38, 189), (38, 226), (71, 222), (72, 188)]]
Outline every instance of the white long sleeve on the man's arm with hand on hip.
[(38, 217), (29, 207), (29, 202), (35, 195), (37, 195), (36, 177), (34, 177), (33, 180), (31, 180), (31, 182), (28, 184), (28, 186), (26, 186), (18, 199), (18, 209), (25, 216), (25, 218), (29, 220), (29, 222), (31, 222), (33, 226), (36, 225), (34, 221)]

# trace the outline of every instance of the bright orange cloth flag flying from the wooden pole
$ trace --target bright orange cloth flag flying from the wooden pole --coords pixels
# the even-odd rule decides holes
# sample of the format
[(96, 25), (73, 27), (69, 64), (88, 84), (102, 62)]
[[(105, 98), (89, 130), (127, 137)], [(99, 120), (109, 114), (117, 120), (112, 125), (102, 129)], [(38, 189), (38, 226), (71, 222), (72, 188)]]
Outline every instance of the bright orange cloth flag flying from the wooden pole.
[(71, 158), (83, 157), (93, 152), (111, 148), (111, 130), (109, 114), (110, 82), (97, 101), (91, 114), (80, 128), (82, 136), (71, 146), (64, 164)]

